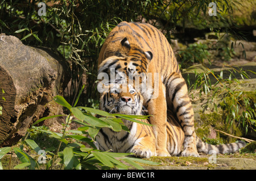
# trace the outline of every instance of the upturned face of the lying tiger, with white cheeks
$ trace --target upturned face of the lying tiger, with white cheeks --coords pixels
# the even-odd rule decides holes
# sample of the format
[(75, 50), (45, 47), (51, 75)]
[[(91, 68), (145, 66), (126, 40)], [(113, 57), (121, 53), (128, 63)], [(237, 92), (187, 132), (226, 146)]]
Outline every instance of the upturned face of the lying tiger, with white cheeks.
[(110, 113), (141, 115), (143, 97), (133, 89), (133, 86), (112, 83), (107, 87), (108, 91), (103, 92), (100, 98), (101, 110)]

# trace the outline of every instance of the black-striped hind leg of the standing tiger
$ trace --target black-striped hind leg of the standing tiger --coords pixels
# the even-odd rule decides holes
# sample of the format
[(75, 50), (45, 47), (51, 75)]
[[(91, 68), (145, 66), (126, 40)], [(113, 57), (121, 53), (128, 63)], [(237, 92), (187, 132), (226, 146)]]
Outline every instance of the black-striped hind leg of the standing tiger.
[(181, 156), (199, 157), (196, 149), (194, 113), (185, 80), (179, 74), (171, 73), (164, 84), (166, 85), (167, 106), (174, 110), (177, 120), (184, 130), (185, 137)]

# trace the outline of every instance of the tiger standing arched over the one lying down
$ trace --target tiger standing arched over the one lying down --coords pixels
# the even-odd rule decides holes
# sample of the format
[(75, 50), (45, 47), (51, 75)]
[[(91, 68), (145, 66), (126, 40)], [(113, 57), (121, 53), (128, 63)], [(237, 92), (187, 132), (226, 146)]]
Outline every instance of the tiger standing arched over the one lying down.
[[(181, 155), (199, 157), (187, 85), (181, 76), (171, 45), (159, 30), (146, 23), (119, 23), (106, 38), (98, 65), (98, 75), (105, 73), (110, 78), (113, 69), (114, 74), (129, 77), (151, 75), (148, 82), (152, 89), (147, 87), (142, 96), (143, 106), (152, 115), (150, 123), (155, 125), (153, 133), (157, 155), (170, 156), (166, 145), (168, 107), (175, 112), (184, 129), (184, 150)], [(142, 82), (142, 78), (143, 76), (139, 81)], [(102, 80), (102, 77), (98, 76), (98, 79)]]

